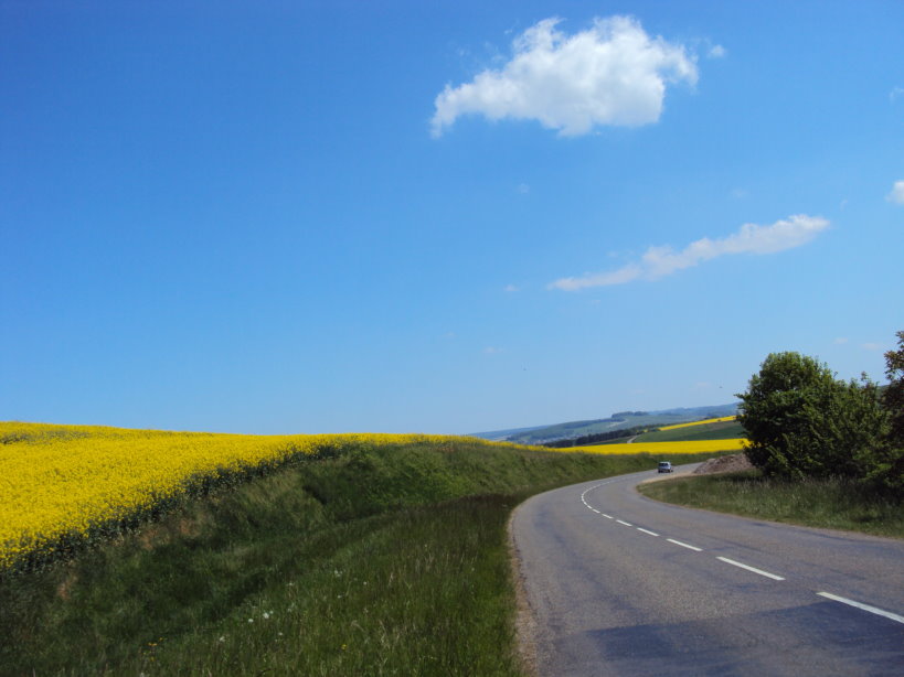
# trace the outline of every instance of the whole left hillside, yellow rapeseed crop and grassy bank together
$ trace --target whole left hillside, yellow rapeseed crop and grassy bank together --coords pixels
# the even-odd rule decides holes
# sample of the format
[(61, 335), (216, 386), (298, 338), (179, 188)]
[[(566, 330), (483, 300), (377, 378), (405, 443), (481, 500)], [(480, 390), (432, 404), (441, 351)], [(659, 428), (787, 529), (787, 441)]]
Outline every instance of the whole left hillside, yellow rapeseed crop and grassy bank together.
[(0, 567), (0, 675), (517, 677), (511, 509), (656, 464), (428, 436), (11, 422), (0, 440), (2, 526), (21, 526), (0, 546), (47, 546)]

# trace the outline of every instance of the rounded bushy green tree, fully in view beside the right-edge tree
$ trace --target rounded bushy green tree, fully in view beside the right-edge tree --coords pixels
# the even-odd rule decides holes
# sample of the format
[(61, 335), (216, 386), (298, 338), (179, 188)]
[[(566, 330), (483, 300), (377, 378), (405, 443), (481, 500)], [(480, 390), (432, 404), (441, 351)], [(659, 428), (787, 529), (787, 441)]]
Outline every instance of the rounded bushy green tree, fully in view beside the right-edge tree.
[(838, 380), (799, 353), (768, 355), (737, 397), (747, 456), (773, 476), (865, 477), (887, 430), (872, 383)]

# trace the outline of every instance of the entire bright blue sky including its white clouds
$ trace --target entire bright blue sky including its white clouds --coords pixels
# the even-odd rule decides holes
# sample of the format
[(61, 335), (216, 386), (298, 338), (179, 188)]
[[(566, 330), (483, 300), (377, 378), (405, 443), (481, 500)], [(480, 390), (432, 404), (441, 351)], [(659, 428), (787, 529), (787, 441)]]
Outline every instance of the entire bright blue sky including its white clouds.
[(904, 3), (0, 0), (0, 420), (450, 432), (904, 330)]

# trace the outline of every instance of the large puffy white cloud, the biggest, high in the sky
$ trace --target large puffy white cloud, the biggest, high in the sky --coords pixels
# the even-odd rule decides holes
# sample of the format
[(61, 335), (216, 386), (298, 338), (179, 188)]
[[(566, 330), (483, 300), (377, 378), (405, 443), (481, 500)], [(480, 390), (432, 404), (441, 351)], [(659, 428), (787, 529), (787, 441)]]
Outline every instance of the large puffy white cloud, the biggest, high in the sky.
[(562, 136), (596, 125), (647, 125), (662, 112), (667, 84), (696, 83), (684, 46), (650, 37), (631, 17), (595, 19), (574, 35), (556, 30), (560, 22), (544, 19), (515, 37), (501, 68), (446, 85), (435, 100), (433, 136), (467, 114), (539, 120)]

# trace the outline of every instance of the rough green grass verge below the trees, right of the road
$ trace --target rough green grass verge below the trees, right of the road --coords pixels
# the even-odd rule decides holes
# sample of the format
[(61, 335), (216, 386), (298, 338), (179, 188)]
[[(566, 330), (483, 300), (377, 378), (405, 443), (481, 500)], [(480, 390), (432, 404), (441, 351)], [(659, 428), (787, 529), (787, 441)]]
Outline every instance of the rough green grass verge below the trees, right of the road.
[(758, 471), (644, 484), (658, 501), (811, 527), (904, 538), (904, 506), (842, 480), (787, 482)]

